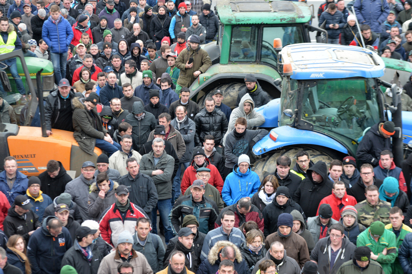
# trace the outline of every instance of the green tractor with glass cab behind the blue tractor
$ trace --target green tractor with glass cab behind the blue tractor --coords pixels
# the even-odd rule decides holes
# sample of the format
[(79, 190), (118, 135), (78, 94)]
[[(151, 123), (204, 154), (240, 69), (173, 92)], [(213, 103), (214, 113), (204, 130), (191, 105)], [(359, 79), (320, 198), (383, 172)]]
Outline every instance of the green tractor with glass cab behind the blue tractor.
[[(219, 0), (215, 12), (220, 20), (217, 41), (202, 46), (212, 67), (190, 86), (190, 98), (199, 105), (215, 90), (224, 92), (223, 103), (235, 107), (246, 74), (253, 73), (272, 98), (280, 97), (274, 39), (283, 45), (311, 42), (309, 33), (327, 32), (311, 25), (313, 6), (304, 2), (265, 0)], [(281, 46), (280, 46), (281, 47)]]

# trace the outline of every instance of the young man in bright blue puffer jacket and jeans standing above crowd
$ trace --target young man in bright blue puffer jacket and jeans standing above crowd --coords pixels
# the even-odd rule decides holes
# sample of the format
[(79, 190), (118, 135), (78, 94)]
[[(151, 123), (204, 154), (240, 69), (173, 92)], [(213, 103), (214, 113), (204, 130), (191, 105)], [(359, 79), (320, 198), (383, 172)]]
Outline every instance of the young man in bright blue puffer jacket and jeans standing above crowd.
[(69, 21), (60, 15), (58, 5), (50, 8), (50, 16), (43, 23), (43, 41), (50, 49), (51, 62), (55, 71), (55, 83), (66, 75), (67, 49), (73, 39), (73, 30)]

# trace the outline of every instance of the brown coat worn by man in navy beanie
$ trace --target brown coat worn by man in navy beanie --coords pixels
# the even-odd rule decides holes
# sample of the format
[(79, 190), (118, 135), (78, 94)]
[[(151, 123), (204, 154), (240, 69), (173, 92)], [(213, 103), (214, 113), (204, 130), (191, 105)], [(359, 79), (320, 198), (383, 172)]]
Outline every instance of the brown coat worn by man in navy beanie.
[(269, 250), (271, 243), (274, 241), (281, 242), (285, 246), (288, 256), (295, 259), (299, 266), (303, 268), (305, 262), (310, 260), (306, 241), (292, 230), (290, 235), (287, 237), (280, 237), (278, 233), (279, 232), (275, 232), (266, 237), (266, 249)]

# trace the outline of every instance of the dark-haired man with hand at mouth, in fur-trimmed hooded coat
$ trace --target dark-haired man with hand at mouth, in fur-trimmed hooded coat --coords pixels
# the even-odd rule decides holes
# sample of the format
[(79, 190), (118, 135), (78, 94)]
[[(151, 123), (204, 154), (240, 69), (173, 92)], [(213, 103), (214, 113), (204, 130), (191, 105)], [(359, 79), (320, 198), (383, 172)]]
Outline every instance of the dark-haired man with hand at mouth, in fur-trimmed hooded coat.
[(92, 220), (100, 220), (103, 211), (116, 202), (114, 193), (118, 186), (117, 182), (109, 179), (106, 172), (96, 176), (96, 182), (91, 184), (88, 197), (88, 212)]

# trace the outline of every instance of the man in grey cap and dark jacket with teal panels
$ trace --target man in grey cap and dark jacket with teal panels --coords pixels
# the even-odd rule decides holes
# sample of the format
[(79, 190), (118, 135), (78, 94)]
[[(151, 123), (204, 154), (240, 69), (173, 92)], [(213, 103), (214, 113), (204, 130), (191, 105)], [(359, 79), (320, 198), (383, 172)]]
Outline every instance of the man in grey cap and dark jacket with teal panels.
[(200, 232), (207, 234), (215, 228), (219, 211), (213, 200), (204, 197), (204, 190), (204, 182), (197, 179), (190, 189), (191, 195), (176, 200), (169, 214), (169, 222), (172, 224), (174, 235), (178, 234), (181, 222), (183, 223), (184, 217), (189, 214), (194, 215), (199, 220)]

